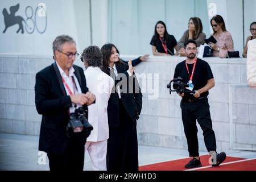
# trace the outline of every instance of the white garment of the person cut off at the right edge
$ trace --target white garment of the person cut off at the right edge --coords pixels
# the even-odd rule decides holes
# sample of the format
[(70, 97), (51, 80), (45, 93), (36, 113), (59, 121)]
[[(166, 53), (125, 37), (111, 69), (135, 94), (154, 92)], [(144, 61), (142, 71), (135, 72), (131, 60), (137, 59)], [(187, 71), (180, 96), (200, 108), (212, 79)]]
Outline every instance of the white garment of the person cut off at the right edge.
[(256, 39), (248, 42), (246, 67), (247, 82), (249, 86), (256, 87)]

